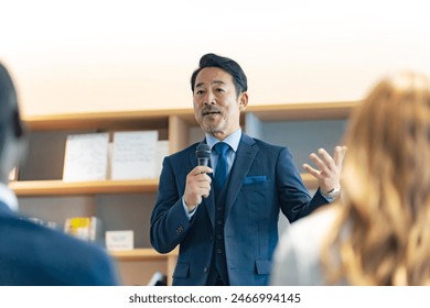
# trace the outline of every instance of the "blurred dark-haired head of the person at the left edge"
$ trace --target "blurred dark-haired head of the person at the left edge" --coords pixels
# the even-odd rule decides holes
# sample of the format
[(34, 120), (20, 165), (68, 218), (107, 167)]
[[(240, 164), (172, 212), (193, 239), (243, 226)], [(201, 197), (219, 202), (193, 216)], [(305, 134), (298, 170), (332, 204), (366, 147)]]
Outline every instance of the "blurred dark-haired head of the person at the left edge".
[(7, 68), (0, 63), (0, 182), (8, 183), (23, 151), (23, 127), (15, 88)]

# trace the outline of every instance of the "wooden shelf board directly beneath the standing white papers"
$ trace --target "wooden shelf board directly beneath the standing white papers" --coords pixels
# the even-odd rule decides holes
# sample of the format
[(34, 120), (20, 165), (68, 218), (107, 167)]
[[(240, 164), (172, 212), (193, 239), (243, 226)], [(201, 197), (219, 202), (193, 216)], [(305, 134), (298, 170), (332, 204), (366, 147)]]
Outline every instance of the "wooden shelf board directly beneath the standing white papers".
[(18, 180), (9, 187), (17, 196), (65, 196), (96, 194), (155, 193), (158, 179), (141, 180), (100, 180), (65, 183), (55, 180)]

